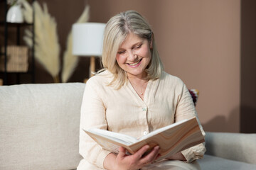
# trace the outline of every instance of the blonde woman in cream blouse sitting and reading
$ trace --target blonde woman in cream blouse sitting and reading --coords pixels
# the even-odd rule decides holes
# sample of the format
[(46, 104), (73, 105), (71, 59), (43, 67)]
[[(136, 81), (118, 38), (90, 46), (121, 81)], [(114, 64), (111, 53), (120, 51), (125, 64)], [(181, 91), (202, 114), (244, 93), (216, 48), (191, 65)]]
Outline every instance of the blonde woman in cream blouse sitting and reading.
[(193, 161), (203, 157), (203, 144), (154, 162), (159, 157), (159, 146), (145, 157), (142, 155), (148, 145), (132, 155), (125, 154), (122, 147), (119, 154), (114, 154), (82, 131), (101, 128), (141, 137), (197, 116), (183, 81), (163, 71), (154, 34), (139, 13), (126, 11), (107, 22), (102, 64), (104, 69), (85, 87), (80, 120), (80, 154), (84, 159), (78, 170), (198, 169)]

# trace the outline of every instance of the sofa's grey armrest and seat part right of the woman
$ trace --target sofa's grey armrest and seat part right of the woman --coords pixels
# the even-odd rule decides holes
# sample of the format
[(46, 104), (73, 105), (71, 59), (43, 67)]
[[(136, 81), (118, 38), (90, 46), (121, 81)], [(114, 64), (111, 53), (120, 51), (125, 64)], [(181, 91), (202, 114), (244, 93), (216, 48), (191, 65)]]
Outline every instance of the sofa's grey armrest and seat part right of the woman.
[(202, 169), (256, 169), (256, 134), (206, 132)]

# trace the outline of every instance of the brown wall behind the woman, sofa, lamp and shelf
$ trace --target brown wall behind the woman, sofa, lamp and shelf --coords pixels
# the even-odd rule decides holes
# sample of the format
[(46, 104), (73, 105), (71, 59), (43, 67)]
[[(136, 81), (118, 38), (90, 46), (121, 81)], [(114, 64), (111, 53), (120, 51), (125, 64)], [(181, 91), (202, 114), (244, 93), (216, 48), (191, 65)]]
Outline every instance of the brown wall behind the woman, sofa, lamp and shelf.
[[(214, 132), (256, 132), (256, 1), (38, 2), (46, 3), (48, 12), (57, 23), (61, 62), (68, 33), (85, 6), (90, 6), (89, 22), (97, 23), (106, 23), (121, 11), (138, 11), (154, 30), (164, 70), (181, 78), (188, 89), (198, 89), (196, 110), (203, 128)], [(1, 18), (3, 16), (1, 11)], [(2, 46), (4, 29), (1, 27), (0, 31)], [(15, 43), (16, 28), (9, 27), (8, 31), (9, 44)], [(89, 65), (90, 58), (80, 57), (68, 82), (82, 82), (87, 78)], [(100, 69), (99, 59), (96, 68)], [(31, 78), (23, 74), (19, 81), (20, 84), (27, 84), (31, 83)], [(53, 83), (53, 78), (37, 61), (35, 83)], [(8, 84), (16, 84), (16, 75), (9, 75)]]

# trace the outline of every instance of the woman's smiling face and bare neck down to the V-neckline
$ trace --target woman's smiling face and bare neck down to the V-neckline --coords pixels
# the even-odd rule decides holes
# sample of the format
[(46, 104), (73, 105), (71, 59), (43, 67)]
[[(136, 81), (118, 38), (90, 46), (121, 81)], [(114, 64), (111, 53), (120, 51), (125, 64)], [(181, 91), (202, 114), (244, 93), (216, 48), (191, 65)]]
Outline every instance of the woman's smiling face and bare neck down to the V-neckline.
[(151, 60), (151, 49), (152, 40), (129, 33), (117, 52), (117, 64), (126, 72), (129, 82), (142, 99), (147, 85), (146, 67)]

